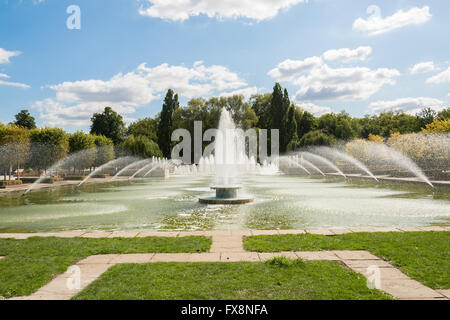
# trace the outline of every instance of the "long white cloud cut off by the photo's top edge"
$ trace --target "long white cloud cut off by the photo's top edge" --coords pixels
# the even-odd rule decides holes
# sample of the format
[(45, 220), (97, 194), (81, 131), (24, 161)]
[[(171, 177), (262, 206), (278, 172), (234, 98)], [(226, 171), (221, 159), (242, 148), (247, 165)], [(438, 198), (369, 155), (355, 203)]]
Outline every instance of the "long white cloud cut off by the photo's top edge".
[(143, 0), (139, 9), (143, 16), (172, 21), (206, 15), (209, 18), (248, 18), (262, 21), (275, 17), (282, 9), (289, 9), (308, 0)]

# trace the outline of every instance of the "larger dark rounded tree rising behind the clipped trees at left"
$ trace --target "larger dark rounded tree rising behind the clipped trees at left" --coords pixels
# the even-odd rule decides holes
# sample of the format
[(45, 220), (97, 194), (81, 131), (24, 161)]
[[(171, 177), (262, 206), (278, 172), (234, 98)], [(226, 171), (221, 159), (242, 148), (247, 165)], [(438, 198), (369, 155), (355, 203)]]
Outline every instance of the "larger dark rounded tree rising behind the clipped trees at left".
[(125, 123), (123, 118), (112, 108), (106, 107), (103, 113), (95, 113), (91, 118), (91, 134), (105, 136), (115, 145), (123, 141)]

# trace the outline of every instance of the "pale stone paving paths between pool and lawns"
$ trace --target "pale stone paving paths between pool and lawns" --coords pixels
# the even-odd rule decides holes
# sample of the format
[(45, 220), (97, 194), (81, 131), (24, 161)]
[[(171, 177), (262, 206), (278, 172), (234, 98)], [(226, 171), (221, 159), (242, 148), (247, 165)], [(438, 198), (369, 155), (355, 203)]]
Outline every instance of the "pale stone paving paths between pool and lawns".
[[(362, 231), (364, 230), (364, 231)], [(450, 290), (433, 290), (412, 280), (399, 269), (367, 251), (334, 250), (320, 252), (247, 252), (243, 248), (242, 237), (251, 235), (275, 234), (321, 234), (337, 235), (351, 232), (410, 232), (410, 231), (450, 231), (449, 227), (427, 228), (366, 228), (366, 229), (332, 229), (332, 230), (295, 230), (295, 231), (204, 231), (204, 232), (64, 232), (52, 234), (0, 234), (0, 238), (27, 239), (40, 237), (183, 237), (192, 235), (210, 236), (213, 239), (211, 249), (207, 253), (148, 253), (148, 254), (106, 254), (94, 255), (79, 261), (68, 268), (64, 274), (56, 276), (50, 283), (27, 297), (11, 300), (70, 300), (90, 283), (98, 279), (110, 267), (123, 263), (155, 263), (155, 262), (263, 262), (274, 257), (302, 259), (305, 261), (329, 260), (337, 261), (343, 266), (362, 274), (374, 286), (400, 300), (448, 300)], [(1, 258), (1, 257), (0, 257)], [(79, 277), (75, 277), (79, 275)], [(79, 279), (79, 282), (74, 281)]]

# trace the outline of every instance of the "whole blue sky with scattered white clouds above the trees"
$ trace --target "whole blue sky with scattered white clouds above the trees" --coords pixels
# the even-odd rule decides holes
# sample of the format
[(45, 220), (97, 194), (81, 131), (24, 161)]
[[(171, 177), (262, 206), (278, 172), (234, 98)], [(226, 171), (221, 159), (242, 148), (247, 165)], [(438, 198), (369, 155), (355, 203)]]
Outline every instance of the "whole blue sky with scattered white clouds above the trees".
[(288, 88), (320, 116), (450, 106), (442, 0), (0, 0), (0, 121), (88, 130), (105, 106)]

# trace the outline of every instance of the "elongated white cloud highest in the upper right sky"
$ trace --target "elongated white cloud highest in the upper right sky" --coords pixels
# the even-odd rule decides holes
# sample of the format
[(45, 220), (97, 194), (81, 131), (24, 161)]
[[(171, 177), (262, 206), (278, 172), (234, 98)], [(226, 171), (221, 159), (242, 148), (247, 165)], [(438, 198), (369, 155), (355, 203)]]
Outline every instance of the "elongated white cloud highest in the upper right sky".
[(423, 24), (432, 17), (428, 6), (424, 6), (423, 8), (414, 7), (408, 11), (399, 10), (392, 16), (386, 18), (381, 16), (380, 8), (377, 6), (370, 6), (367, 9), (367, 13), (373, 13), (373, 15), (367, 20), (363, 18), (357, 19), (353, 23), (353, 30), (366, 32), (371, 36), (386, 33), (412, 24)]

